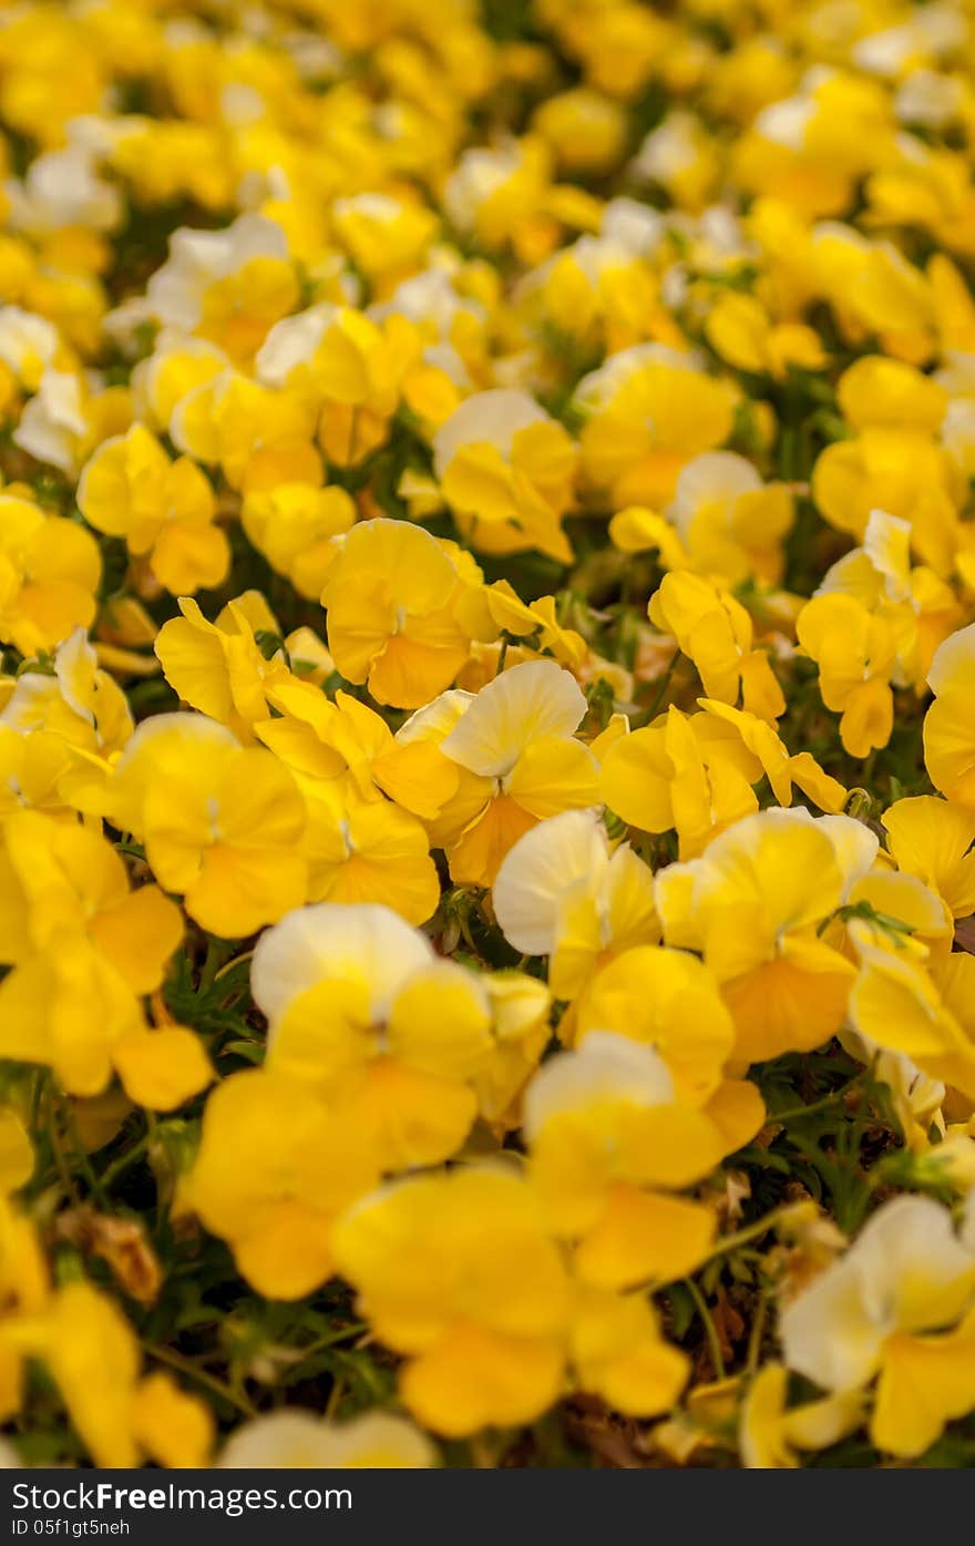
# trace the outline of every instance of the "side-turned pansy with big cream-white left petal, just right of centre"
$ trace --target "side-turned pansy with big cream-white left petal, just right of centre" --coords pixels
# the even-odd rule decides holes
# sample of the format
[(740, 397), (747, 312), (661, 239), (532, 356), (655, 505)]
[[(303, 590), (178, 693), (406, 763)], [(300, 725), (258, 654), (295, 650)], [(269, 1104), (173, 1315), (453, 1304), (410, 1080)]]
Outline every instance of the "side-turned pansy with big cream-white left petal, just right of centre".
[(660, 937), (649, 866), (626, 843), (610, 852), (589, 810), (549, 816), (519, 838), (501, 863), (491, 901), (515, 949), (550, 957), (558, 999), (575, 999), (620, 951)]

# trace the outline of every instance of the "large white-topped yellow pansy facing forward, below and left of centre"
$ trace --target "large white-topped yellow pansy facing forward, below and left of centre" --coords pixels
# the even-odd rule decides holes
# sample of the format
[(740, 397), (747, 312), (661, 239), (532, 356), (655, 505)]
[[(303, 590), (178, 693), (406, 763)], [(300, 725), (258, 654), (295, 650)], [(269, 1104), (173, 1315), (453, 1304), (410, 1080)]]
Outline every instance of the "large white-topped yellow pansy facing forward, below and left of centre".
[(493, 1050), (473, 972), (437, 960), (388, 908), (326, 901), (261, 937), (252, 991), (269, 1068), (340, 1102), (385, 1169), (456, 1153), (477, 1110), (470, 1081)]

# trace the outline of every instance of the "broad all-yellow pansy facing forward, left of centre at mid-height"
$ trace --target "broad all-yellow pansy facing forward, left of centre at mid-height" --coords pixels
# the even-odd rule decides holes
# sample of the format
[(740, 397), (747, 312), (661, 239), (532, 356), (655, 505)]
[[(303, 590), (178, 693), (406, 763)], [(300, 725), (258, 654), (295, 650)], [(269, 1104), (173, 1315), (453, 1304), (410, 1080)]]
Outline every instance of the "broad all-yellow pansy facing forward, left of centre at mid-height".
[(136, 730), (107, 790), (113, 822), (145, 843), (159, 883), (201, 928), (252, 934), (304, 901), (297, 850), (304, 801), (263, 747), (202, 714), (155, 714)]

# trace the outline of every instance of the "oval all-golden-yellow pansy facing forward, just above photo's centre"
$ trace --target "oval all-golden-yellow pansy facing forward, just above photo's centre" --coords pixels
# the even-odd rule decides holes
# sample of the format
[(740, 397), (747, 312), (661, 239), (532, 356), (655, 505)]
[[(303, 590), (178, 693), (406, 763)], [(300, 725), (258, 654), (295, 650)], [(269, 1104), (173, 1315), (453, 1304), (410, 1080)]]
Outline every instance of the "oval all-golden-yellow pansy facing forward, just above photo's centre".
[(470, 652), (450, 555), (408, 521), (363, 521), (331, 564), (323, 601), (337, 669), (379, 703), (419, 708), (450, 686)]

